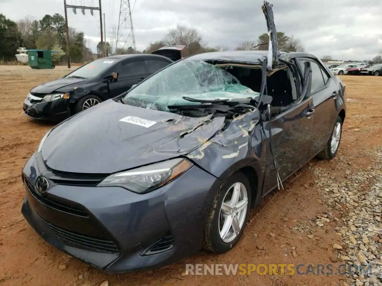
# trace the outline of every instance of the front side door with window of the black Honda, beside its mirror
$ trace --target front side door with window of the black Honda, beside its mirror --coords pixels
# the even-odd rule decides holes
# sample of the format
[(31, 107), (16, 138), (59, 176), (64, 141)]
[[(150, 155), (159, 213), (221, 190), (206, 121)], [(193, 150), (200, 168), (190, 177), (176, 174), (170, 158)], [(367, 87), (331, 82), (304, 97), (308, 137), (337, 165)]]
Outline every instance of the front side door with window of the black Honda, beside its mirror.
[(149, 76), (146, 74), (145, 60), (123, 62), (113, 71), (118, 72), (118, 80), (109, 83), (111, 97), (120, 95)]

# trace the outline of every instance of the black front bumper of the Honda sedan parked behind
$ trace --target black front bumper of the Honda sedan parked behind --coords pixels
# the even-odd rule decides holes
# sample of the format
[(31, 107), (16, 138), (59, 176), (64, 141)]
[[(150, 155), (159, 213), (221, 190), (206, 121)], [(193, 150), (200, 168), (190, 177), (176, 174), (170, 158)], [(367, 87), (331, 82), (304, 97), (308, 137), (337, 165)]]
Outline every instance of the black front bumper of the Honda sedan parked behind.
[(33, 119), (47, 121), (63, 121), (70, 117), (69, 99), (57, 99), (53, 101), (30, 101), (24, 100), (24, 114)]

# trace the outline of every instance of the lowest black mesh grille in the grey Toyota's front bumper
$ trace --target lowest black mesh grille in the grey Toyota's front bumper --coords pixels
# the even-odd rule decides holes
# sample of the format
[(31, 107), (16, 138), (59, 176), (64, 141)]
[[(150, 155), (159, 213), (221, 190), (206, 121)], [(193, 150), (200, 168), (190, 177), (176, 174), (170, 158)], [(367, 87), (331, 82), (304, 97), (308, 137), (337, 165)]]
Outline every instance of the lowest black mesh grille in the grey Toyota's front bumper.
[(92, 251), (118, 253), (117, 245), (111, 240), (94, 238), (91, 236), (81, 235), (73, 231), (65, 230), (64, 228), (47, 222), (35, 212), (33, 213), (36, 216), (36, 219), (39, 220), (46, 228), (48, 228), (50, 231), (52, 231), (52, 233), (59, 236), (60, 238), (65, 239), (66, 241)]

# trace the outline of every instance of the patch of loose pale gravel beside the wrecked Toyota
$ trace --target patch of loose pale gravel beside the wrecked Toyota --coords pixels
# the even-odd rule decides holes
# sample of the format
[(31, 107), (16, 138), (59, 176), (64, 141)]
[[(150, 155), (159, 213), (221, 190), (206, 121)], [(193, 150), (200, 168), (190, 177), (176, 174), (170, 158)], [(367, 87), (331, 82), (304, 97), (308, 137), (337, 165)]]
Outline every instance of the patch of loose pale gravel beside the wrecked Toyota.
[[(314, 239), (315, 228), (337, 225), (335, 231), (343, 239), (333, 243), (332, 262), (346, 264), (351, 286), (382, 286), (382, 148), (362, 151), (374, 157), (376, 164), (365, 170), (357, 169), (356, 162), (345, 157), (336, 158), (346, 180), (338, 182), (330, 170), (314, 167), (318, 180), (315, 185), (322, 193), (322, 202), (330, 211), (318, 215), (310, 222), (301, 222), (295, 230)], [(333, 213), (336, 216), (333, 216)], [(335, 223), (331, 223), (336, 221)]]

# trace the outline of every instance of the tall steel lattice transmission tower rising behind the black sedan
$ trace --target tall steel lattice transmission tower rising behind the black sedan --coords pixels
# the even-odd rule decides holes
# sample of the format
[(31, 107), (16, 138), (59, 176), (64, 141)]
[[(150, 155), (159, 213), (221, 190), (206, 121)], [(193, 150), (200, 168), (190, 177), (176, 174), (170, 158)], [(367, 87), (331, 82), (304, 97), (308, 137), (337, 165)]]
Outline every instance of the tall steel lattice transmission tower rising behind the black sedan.
[(122, 44), (122, 47), (132, 47), (134, 53), (136, 53), (137, 47), (135, 44), (133, 18), (131, 18), (131, 6), (130, 0), (121, 0), (120, 16), (117, 29), (117, 41), (115, 44), (115, 50), (117, 51), (118, 43)]

